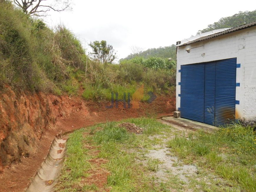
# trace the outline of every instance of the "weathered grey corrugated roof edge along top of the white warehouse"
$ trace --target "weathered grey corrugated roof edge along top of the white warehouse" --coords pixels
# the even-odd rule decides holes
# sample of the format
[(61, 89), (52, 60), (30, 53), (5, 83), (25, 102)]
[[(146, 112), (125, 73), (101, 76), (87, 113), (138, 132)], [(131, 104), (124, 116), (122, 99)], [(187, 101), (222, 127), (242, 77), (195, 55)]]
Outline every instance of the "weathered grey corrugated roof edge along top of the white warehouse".
[(241, 25), (241, 26), (238, 26), (238, 27), (234, 27), (234, 28), (231, 28), (231, 29), (227, 29), (225, 31), (221, 31), (221, 32), (218, 32), (218, 33), (215, 33), (215, 34), (203, 36), (203, 37), (200, 37), (200, 38), (195, 39), (193, 41), (189, 41), (187, 43), (181, 43), (181, 44), (178, 44), (177, 47), (192, 44), (192, 43), (199, 42), (199, 41), (203, 41), (203, 40), (210, 39), (210, 38), (213, 38), (213, 37), (221, 36), (221, 35), (224, 35), (224, 34), (227, 34), (227, 33), (231, 33), (231, 32), (238, 31), (238, 30), (241, 30), (241, 29), (245, 29), (245, 28), (248, 28), (248, 27), (252, 27), (252, 26), (255, 26), (255, 25), (256, 25), (256, 21), (245, 24), (245, 25)]

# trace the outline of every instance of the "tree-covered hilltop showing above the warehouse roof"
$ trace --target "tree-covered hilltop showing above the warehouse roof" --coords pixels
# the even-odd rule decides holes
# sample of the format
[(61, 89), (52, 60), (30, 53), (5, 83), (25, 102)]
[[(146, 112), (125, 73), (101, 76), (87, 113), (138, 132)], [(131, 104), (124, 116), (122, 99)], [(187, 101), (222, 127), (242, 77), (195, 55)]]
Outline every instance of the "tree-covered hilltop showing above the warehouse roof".
[(197, 34), (205, 33), (215, 29), (237, 27), (253, 21), (256, 21), (256, 10), (245, 12), (240, 11), (233, 16), (221, 18), (219, 21), (208, 25), (207, 28), (199, 30)]

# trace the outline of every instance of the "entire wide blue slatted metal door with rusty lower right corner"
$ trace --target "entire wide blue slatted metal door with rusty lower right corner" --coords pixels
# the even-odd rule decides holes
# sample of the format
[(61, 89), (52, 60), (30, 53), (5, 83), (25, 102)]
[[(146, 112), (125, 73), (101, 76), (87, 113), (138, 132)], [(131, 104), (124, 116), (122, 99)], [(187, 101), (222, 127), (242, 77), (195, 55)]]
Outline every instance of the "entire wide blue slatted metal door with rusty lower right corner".
[(223, 126), (235, 121), (236, 58), (181, 66), (182, 118)]

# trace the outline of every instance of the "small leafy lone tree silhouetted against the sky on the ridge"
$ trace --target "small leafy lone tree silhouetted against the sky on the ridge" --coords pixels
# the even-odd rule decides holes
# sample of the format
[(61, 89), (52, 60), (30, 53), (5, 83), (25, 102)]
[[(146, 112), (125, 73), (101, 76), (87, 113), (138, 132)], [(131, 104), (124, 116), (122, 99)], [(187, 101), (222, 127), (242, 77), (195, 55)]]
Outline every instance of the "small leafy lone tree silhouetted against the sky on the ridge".
[(112, 45), (107, 44), (107, 41), (94, 41), (89, 44), (93, 52), (89, 54), (94, 60), (102, 63), (112, 63), (116, 59), (116, 52)]

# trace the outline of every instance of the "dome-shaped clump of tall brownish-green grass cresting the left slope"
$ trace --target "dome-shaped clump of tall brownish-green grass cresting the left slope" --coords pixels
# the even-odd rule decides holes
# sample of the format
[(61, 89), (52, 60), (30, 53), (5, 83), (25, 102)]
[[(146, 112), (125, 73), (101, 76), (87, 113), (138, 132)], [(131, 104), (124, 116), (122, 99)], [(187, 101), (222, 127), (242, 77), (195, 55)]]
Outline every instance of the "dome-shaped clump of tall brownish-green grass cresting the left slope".
[(66, 27), (59, 25), (53, 30), (45, 27), (35, 36), (37, 62), (54, 83), (62, 84), (77, 71), (84, 72), (87, 56), (81, 43)]

